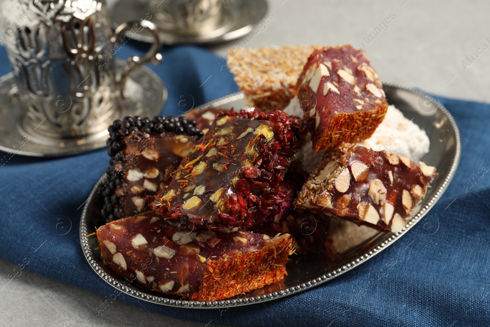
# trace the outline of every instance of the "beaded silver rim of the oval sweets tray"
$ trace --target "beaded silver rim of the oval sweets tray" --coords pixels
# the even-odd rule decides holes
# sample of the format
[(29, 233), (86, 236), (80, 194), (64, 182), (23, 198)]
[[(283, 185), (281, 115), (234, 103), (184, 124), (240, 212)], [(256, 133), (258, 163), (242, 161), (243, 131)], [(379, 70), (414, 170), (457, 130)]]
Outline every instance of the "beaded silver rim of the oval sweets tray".
[[(406, 86), (403, 86), (398, 83), (391, 83), (391, 82), (383, 82), (383, 85), (386, 86), (391, 86), (394, 88), (401, 89), (403, 91), (408, 91), (411, 93), (414, 93), (415, 95), (419, 97), (424, 97), (425, 99), (428, 95), (418, 91), (417, 89), (414, 88), (409, 88)], [(244, 98), (244, 94), (242, 92), (237, 92), (225, 97), (222, 97), (220, 99), (217, 99), (215, 101), (211, 101), (208, 103), (205, 103), (203, 105), (198, 106), (196, 109), (206, 109), (211, 106), (219, 106), (223, 104), (227, 104), (231, 101), (236, 101)], [(288, 287), (284, 290), (276, 291), (276, 292), (271, 292), (267, 294), (263, 294), (260, 296), (254, 296), (254, 297), (249, 297), (249, 298), (244, 298), (244, 299), (238, 299), (238, 300), (221, 300), (221, 301), (185, 301), (185, 300), (174, 300), (174, 299), (169, 299), (166, 298), (165, 294), (162, 294), (162, 296), (155, 296), (152, 294), (148, 294), (146, 292), (142, 292), (130, 285), (126, 285), (120, 280), (112, 277), (112, 275), (105, 269), (105, 267), (97, 260), (97, 258), (92, 254), (92, 249), (90, 247), (89, 239), (86, 237), (89, 232), (89, 226), (88, 226), (88, 211), (90, 209), (90, 206), (92, 205), (92, 202), (94, 201), (95, 197), (97, 196), (97, 190), (102, 181), (105, 178), (105, 173), (103, 176), (100, 177), (98, 180), (97, 184), (94, 186), (92, 189), (87, 202), (83, 208), (83, 212), (81, 215), (80, 219), (80, 244), (82, 247), (82, 251), (85, 255), (85, 258), (87, 259), (88, 263), (94, 269), (94, 271), (97, 273), (99, 277), (101, 277), (104, 281), (106, 281), (109, 285), (113, 286), (114, 288), (118, 289), (119, 291), (123, 292), (124, 294), (130, 295), (132, 297), (135, 297), (137, 299), (155, 303), (155, 304), (162, 304), (162, 305), (167, 305), (167, 306), (173, 306), (173, 307), (186, 307), (186, 308), (220, 308), (220, 307), (228, 307), (228, 306), (242, 306), (242, 305), (247, 305), (247, 304), (252, 304), (252, 303), (257, 303), (257, 302), (266, 302), (274, 299), (279, 299), (285, 296), (289, 296), (291, 294), (296, 294), (298, 292), (304, 291), (311, 289), (312, 287), (315, 287), (316, 285), (322, 284), (326, 281), (329, 281), (335, 277), (338, 277), (342, 275), (343, 273), (357, 267), (358, 265), (366, 262), (368, 259), (376, 255), (377, 253), (383, 251), (386, 249), (388, 246), (390, 246), (394, 241), (399, 239), (402, 235), (404, 235), (408, 230), (410, 230), (417, 222), (419, 222), (425, 214), (434, 206), (434, 204), (441, 198), (441, 195), (444, 193), (444, 191), (447, 188), (447, 185), (451, 182), (454, 173), (456, 171), (456, 168), (458, 167), (460, 157), (461, 157), (461, 140), (459, 136), (459, 129), (458, 126), (456, 125), (456, 122), (454, 121), (453, 117), (451, 114), (447, 111), (447, 109), (438, 101), (430, 97), (429, 99), (433, 104), (437, 105), (437, 110), (441, 110), (444, 116), (447, 118), (449, 121), (450, 125), (452, 126), (455, 136), (456, 136), (456, 151), (455, 155), (452, 158), (452, 164), (449, 172), (446, 174), (445, 178), (443, 181), (440, 181), (438, 185), (441, 185), (437, 192), (435, 192), (432, 196), (432, 198), (428, 201), (426, 201), (427, 204), (425, 204), (423, 207), (420, 208), (420, 210), (417, 212), (417, 214), (413, 215), (412, 219), (408, 222), (408, 224), (403, 227), (403, 229), (396, 234), (390, 236), (387, 240), (380, 242), (374, 249), (372, 249), (369, 252), (364, 253), (363, 255), (357, 257), (356, 259), (352, 260), (351, 262), (347, 263), (346, 265), (343, 265), (341, 268), (332, 270), (326, 274), (323, 274), (319, 277), (312, 278), (311, 280), (304, 282), (304, 283), (299, 283), (295, 285), (294, 287)]]

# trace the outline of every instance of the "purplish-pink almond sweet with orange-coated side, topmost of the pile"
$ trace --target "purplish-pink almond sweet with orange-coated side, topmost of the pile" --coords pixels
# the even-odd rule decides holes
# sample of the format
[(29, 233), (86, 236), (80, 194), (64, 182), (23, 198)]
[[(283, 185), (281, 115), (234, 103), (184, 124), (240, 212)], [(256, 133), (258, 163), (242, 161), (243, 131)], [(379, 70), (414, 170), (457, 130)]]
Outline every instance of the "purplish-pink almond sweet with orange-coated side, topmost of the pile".
[(350, 45), (314, 50), (297, 84), (296, 102), (315, 119), (314, 151), (368, 138), (388, 109), (378, 74)]

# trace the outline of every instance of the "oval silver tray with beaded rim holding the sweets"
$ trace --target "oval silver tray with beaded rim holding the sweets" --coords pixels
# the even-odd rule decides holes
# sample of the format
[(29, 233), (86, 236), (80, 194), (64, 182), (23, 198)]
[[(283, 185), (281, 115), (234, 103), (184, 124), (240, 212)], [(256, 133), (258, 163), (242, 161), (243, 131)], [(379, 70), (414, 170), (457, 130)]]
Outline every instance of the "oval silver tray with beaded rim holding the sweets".
[[(438, 101), (417, 90), (391, 83), (385, 83), (384, 90), (390, 104), (394, 104), (405, 117), (413, 119), (414, 123), (426, 131), (431, 144), (429, 153), (422, 158), (422, 161), (437, 167), (439, 173), (425, 198), (414, 208), (412, 219), (400, 232), (396, 234), (381, 232), (368, 226), (357, 226), (349, 221), (332, 218), (329, 232), (333, 238), (332, 250), (337, 254), (338, 259), (330, 260), (319, 257), (319, 255), (298, 256), (295, 260), (290, 260), (292, 262), (286, 266), (288, 276), (282, 283), (269, 285), (223, 301), (181, 301), (179, 297), (153, 292), (136, 283), (127, 283), (107, 271), (101, 264), (100, 253), (95, 250), (98, 247), (97, 237), (85, 236), (103, 224), (98, 213), (103, 203), (101, 193), (98, 193), (98, 189), (104, 185), (105, 176), (102, 176), (83, 208), (80, 221), (80, 242), (90, 266), (107, 283), (135, 298), (176, 307), (216, 308), (246, 305), (289, 296), (327, 282), (366, 262), (415, 226), (441, 198), (454, 175), (461, 153), (458, 127), (449, 112)], [(220, 106), (223, 109), (232, 107), (246, 109), (248, 107), (244, 105), (243, 100), (243, 94), (236, 93), (206, 103), (199, 108)]]

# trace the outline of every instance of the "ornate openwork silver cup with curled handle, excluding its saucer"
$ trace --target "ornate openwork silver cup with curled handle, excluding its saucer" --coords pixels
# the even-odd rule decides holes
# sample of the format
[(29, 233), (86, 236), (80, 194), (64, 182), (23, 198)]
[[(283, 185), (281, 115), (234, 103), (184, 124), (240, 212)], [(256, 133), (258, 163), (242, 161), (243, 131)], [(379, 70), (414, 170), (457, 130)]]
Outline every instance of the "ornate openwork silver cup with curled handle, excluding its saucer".
[[(114, 56), (106, 53), (121, 35), (112, 34), (104, 0), (4, 0), (1, 16), (6, 33), (0, 38), (24, 111), (22, 128), (48, 139), (103, 132), (120, 112), (118, 90), (143, 64), (131, 57), (128, 72), (115, 75)], [(141, 25), (158, 48), (156, 26)], [(159, 62), (156, 50), (145, 58)]]

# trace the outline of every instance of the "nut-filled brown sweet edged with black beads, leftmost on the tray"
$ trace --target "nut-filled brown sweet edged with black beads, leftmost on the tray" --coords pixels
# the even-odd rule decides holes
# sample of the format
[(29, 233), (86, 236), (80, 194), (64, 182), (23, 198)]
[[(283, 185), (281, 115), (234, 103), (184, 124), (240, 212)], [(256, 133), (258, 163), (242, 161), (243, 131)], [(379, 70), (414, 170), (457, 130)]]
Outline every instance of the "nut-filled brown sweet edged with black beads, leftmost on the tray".
[(109, 126), (110, 167), (103, 189), (102, 216), (107, 221), (147, 211), (147, 195), (170, 182), (196, 141), (203, 135), (184, 117), (125, 117)]

